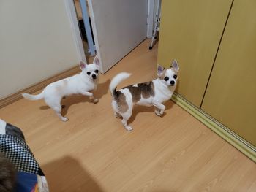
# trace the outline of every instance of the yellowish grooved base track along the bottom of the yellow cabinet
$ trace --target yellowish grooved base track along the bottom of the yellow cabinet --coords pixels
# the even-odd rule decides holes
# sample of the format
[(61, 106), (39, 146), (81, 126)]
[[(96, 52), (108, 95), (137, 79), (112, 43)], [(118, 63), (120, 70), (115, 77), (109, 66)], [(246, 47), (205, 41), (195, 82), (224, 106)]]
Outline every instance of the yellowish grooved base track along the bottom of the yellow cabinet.
[(229, 128), (225, 127), (224, 125), (222, 125), (222, 123), (219, 123), (214, 118), (211, 118), (211, 116), (206, 114), (206, 112), (203, 112), (203, 110), (200, 110), (198, 107), (191, 104), (189, 101), (187, 101), (187, 99), (184, 99), (177, 93), (173, 94), (172, 100), (181, 108), (197, 118), (197, 120), (200, 120), (200, 122), (205, 124), (220, 137), (222, 137), (231, 145), (240, 150), (241, 153), (244, 153), (244, 155), (248, 156), (252, 159), (252, 161), (256, 162), (256, 147), (251, 145), (249, 142), (246, 142), (246, 140), (239, 137), (233, 131), (230, 131)]

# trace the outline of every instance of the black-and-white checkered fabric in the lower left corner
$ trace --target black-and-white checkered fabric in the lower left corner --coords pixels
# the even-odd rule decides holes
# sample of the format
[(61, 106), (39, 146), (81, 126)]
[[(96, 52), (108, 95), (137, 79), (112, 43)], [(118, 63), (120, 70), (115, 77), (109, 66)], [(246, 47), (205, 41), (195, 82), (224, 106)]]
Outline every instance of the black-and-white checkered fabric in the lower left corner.
[(42, 172), (23, 139), (8, 134), (0, 134), (0, 151), (12, 161), (18, 171), (33, 174)]

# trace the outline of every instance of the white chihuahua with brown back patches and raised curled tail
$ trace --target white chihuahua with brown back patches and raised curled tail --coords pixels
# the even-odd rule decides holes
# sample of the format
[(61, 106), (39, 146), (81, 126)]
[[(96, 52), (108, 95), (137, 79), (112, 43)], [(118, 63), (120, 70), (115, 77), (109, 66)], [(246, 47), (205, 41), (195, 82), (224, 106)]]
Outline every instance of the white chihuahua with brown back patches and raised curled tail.
[(162, 102), (167, 101), (173, 95), (178, 80), (178, 63), (173, 61), (170, 69), (164, 69), (157, 66), (156, 80), (146, 83), (129, 85), (116, 91), (116, 86), (123, 80), (127, 79), (130, 74), (122, 72), (110, 82), (110, 93), (113, 101), (112, 107), (117, 118), (122, 117), (122, 123), (127, 131), (131, 131), (132, 127), (127, 125), (127, 120), (132, 115), (134, 104), (144, 106), (154, 106), (155, 113), (159, 116), (165, 111), (165, 105)]

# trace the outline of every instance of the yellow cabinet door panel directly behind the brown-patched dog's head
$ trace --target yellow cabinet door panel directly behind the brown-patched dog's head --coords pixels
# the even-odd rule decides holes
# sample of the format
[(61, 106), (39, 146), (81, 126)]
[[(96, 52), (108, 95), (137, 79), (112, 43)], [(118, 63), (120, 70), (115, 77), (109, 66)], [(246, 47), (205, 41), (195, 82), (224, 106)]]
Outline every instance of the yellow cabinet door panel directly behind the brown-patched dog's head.
[(176, 92), (200, 107), (231, 0), (162, 0), (157, 63), (180, 66)]

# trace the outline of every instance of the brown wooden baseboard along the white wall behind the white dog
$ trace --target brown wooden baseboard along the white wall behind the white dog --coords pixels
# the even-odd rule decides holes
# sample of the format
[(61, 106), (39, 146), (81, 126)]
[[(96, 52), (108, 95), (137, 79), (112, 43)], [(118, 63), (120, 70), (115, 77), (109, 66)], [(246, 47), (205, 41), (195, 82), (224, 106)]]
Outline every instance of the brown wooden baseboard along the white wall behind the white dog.
[(18, 91), (17, 93), (13, 93), (10, 96), (5, 97), (4, 99), (0, 99), (0, 108), (7, 106), (8, 104), (12, 104), (19, 99), (22, 99), (21, 93), (34, 93), (39, 91), (42, 88), (45, 88), (46, 85), (51, 82), (55, 82), (57, 80), (61, 80), (63, 78), (69, 77), (73, 74), (80, 72), (79, 66), (72, 67), (65, 72), (61, 72), (60, 74), (56, 74), (53, 77), (48, 78), (47, 80), (43, 80), (38, 82), (35, 85), (31, 85), (29, 88), (24, 88), (23, 90)]

